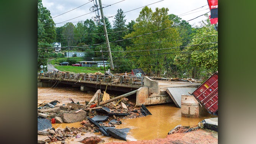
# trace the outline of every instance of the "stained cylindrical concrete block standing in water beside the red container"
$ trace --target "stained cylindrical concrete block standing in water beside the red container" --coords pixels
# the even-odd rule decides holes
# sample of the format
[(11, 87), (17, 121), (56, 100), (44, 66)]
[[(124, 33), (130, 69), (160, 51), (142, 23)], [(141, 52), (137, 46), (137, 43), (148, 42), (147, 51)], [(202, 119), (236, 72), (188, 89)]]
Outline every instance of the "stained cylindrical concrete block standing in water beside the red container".
[(193, 95), (181, 95), (181, 116), (188, 118), (199, 117), (199, 102)]

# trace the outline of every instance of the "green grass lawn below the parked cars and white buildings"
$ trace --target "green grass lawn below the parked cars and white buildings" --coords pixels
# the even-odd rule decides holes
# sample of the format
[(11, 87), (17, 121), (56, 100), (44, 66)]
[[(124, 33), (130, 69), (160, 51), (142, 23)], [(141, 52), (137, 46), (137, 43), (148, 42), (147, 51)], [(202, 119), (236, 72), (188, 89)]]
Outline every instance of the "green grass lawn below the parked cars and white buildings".
[(74, 73), (95, 73), (101, 72), (104, 74), (104, 70), (101, 70), (100, 67), (77, 67), (72, 65), (54, 65), (54, 67), (60, 71), (74, 72)]

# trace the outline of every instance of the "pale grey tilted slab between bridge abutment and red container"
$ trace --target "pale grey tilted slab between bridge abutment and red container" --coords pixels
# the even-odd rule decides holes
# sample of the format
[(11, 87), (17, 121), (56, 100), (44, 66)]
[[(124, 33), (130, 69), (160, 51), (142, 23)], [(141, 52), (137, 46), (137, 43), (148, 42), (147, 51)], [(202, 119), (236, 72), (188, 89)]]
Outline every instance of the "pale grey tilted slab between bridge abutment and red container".
[(174, 104), (181, 108), (181, 95), (187, 95), (193, 93), (197, 88), (192, 87), (170, 87), (166, 88), (166, 92), (170, 95)]

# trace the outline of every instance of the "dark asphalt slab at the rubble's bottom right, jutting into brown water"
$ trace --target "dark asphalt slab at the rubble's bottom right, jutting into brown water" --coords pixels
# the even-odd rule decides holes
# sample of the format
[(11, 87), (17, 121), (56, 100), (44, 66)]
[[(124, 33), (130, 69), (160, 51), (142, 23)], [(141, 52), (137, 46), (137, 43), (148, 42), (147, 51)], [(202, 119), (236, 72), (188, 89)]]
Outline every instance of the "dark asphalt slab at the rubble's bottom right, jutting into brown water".
[(115, 129), (115, 128), (108, 128), (107, 133), (111, 136), (115, 137), (116, 139), (121, 139), (126, 141), (127, 133), (130, 129)]

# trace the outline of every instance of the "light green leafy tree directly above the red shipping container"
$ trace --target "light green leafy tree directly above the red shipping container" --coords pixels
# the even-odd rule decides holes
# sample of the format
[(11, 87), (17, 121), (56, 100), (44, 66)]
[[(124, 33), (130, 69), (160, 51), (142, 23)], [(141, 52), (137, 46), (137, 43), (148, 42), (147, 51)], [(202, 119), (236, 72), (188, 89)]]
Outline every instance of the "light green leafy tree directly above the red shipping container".
[(218, 31), (210, 20), (201, 21), (189, 47), (177, 54), (175, 63), (187, 77), (206, 79), (218, 70)]

